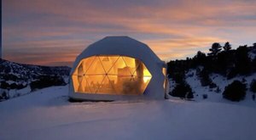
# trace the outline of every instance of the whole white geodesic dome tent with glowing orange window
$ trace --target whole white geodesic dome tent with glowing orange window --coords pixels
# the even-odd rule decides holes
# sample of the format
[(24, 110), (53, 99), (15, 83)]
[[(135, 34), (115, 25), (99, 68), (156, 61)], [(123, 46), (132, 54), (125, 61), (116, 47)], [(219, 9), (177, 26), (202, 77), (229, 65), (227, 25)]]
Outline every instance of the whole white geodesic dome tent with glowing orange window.
[(73, 64), (69, 96), (79, 100), (164, 98), (166, 64), (146, 44), (107, 36)]

